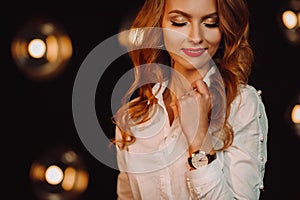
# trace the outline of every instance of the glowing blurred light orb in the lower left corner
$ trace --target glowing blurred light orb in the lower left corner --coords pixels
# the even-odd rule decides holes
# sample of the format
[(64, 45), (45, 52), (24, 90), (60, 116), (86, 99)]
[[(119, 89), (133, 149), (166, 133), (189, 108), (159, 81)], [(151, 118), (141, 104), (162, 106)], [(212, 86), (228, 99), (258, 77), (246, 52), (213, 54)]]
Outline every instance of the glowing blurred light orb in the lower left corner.
[(67, 147), (42, 154), (32, 163), (29, 177), (39, 200), (77, 200), (89, 183), (83, 159)]

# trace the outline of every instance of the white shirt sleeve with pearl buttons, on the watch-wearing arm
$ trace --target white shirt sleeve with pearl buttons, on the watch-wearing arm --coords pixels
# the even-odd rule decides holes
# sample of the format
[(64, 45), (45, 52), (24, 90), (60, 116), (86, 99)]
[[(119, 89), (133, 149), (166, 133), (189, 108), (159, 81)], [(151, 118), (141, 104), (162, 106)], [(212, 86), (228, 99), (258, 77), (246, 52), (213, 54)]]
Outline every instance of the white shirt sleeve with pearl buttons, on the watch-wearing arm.
[(257, 200), (263, 189), (267, 161), (268, 121), (260, 91), (242, 89), (232, 103), (229, 122), (233, 144), (217, 152), (217, 159), (187, 173), (195, 199)]

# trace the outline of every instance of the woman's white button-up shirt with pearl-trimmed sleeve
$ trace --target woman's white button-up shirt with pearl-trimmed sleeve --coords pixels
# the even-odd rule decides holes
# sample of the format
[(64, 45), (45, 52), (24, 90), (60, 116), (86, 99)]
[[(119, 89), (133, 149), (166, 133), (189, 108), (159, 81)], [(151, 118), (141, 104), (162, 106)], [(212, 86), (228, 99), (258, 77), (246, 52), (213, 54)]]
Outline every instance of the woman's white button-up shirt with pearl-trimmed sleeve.
[[(162, 92), (156, 96), (158, 109), (151, 120), (133, 130), (135, 143), (127, 150), (116, 145), (118, 199), (258, 200), (263, 189), (268, 133), (261, 92), (250, 85), (240, 87), (229, 117), (233, 144), (217, 151), (217, 159), (209, 165), (192, 171), (179, 120), (175, 118), (169, 125)], [(120, 137), (116, 127), (116, 138)]]

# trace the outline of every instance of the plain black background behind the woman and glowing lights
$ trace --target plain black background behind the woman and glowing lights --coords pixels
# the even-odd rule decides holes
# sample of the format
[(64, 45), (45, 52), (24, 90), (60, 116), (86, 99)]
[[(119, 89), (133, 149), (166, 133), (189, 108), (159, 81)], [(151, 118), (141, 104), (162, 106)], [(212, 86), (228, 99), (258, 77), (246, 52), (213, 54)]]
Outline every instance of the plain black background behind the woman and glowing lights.
[[(261, 199), (300, 199), (300, 138), (290, 126), (288, 111), (300, 92), (300, 46), (287, 42), (281, 32), (281, 1), (250, 1), (250, 42), (255, 63), (250, 83), (261, 89), (269, 117), (268, 162), (265, 191)], [(97, 5), (99, 3), (99, 5)], [(117, 34), (121, 23), (134, 15), (142, 1), (122, 0), (78, 3), (9, 2), (2, 7), (0, 29), (2, 103), (2, 194), (8, 199), (35, 199), (29, 180), (31, 163), (42, 153), (58, 146), (78, 151), (87, 165), (90, 182), (80, 199), (115, 199), (117, 171), (97, 161), (81, 143), (72, 116), (72, 89), (77, 70), (89, 52), (106, 38)], [(10, 53), (11, 41), (20, 27), (36, 18), (59, 22), (71, 37), (73, 55), (66, 70), (58, 77), (36, 82), (18, 69)], [(110, 77), (116, 78), (116, 72)], [(110, 80), (107, 78), (106, 81)], [(114, 80), (114, 79), (112, 79)], [(105, 82), (107, 87), (111, 83)], [(100, 121), (108, 135), (113, 134), (108, 119), (109, 92), (97, 98)], [(102, 107), (101, 107), (102, 106)], [(101, 110), (103, 109), (103, 110)], [(103, 114), (104, 113), (104, 114)], [(108, 114), (107, 114), (108, 113)], [(295, 182), (294, 182), (295, 181)]]

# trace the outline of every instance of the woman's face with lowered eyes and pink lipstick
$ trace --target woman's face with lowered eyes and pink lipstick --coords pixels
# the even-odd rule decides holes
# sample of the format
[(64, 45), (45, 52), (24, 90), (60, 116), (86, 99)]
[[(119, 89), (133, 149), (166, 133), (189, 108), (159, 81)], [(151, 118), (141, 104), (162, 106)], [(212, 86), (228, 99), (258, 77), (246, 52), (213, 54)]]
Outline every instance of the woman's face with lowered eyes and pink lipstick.
[(174, 68), (207, 71), (222, 37), (218, 25), (216, 0), (166, 0), (162, 28)]

